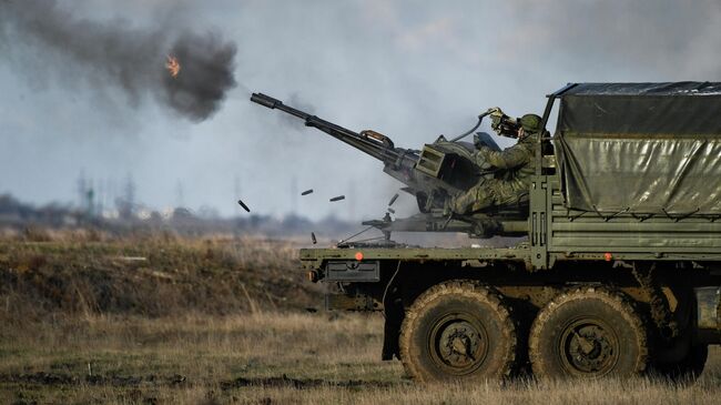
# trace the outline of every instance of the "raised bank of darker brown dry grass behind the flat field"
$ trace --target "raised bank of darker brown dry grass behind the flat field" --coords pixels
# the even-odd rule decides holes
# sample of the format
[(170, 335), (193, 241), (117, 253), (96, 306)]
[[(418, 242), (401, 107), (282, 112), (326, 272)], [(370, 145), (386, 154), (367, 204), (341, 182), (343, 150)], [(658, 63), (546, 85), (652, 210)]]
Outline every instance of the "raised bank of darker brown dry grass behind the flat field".
[(297, 247), (257, 237), (0, 240), (0, 318), (224, 315), (317, 304)]

